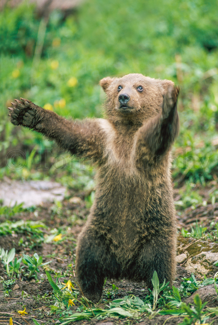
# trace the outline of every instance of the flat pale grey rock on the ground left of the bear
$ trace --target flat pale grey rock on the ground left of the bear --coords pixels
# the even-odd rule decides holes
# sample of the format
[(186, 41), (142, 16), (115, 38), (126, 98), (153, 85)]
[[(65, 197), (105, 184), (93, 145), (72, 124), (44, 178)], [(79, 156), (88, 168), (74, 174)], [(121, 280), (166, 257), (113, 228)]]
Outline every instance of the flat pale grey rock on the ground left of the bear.
[(52, 181), (0, 182), (0, 200), (3, 205), (14, 206), (24, 202), (23, 207), (40, 205), (45, 201), (62, 201), (66, 188)]

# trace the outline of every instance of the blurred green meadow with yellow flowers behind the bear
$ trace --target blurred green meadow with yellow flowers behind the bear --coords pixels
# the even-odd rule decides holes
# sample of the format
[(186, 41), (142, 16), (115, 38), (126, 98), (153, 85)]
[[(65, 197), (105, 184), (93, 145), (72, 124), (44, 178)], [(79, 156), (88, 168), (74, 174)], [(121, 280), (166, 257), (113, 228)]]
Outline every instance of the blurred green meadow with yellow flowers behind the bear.
[[(28, 98), (66, 117), (100, 117), (99, 80), (142, 73), (171, 79), (181, 89), (175, 183), (217, 179), (216, 0), (92, 0), (67, 17), (53, 11), (48, 20), (35, 12), (26, 3), (0, 12), (0, 177), (33, 177), (37, 150), (51, 148), (40, 134), (8, 122), (6, 107), (14, 98)], [(21, 143), (29, 165), (26, 172), (11, 171), (6, 154)]]

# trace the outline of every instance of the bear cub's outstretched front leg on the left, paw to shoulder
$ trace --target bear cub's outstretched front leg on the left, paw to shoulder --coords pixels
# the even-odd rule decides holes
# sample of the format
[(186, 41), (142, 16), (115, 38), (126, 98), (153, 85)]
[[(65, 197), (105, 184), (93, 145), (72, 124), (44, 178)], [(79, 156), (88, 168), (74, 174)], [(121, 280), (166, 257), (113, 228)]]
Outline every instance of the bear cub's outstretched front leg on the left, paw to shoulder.
[(105, 134), (97, 119), (70, 121), (23, 98), (15, 99), (12, 106), (8, 107), (12, 124), (40, 132), (73, 155), (96, 162), (103, 158)]

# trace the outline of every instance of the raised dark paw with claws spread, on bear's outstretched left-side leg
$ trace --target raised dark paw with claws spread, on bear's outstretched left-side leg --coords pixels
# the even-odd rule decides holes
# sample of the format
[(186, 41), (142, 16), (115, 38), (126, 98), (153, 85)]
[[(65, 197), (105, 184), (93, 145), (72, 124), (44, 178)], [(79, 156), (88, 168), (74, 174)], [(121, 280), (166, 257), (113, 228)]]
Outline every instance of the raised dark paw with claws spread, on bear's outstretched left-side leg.
[(37, 124), (40, 123), (41, 113), (43, 115), (43, 109), (30, 100), (20, 98), (15, 99), (15, 103), (11, 103), (13, 108), (8, 107), (10, 110), (10, 121), (14, 125), (22, 125), (29, 128), (37, 128)]

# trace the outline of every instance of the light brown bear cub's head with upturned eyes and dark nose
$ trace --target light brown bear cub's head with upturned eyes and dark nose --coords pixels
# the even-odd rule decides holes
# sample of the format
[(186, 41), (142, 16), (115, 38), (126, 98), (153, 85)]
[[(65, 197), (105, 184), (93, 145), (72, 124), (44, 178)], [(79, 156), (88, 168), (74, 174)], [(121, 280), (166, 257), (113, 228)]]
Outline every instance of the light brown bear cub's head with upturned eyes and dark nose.
[(111, 122), (141, 124), (160, 113), (163, 95), (174, 83), (130, 73), (103, 78), (100, 85), (107, 95), (105, 110)]

